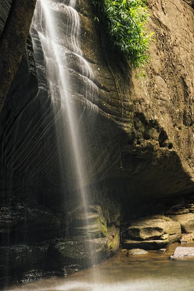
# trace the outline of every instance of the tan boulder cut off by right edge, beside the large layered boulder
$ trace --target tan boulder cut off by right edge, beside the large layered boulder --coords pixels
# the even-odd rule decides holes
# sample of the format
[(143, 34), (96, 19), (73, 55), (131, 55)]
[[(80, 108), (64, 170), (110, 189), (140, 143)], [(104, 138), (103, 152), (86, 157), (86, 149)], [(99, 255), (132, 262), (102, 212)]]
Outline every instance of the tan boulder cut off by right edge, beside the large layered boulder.
[(181, 225), (182, 233), (194, 232), (194, 213), (170, 215), (170, 218)]

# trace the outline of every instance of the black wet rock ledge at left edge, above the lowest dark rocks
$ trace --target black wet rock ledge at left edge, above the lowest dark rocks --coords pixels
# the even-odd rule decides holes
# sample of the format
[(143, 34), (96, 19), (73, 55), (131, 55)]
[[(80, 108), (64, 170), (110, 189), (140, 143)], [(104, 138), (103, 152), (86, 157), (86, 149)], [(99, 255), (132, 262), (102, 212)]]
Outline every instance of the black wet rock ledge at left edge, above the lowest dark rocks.
[(37, 204), (33, 199), (23, 204), (12, 197), (9, 206), (0, 207), (0, 244), (37, 243), (62, 231), (62, 217)]

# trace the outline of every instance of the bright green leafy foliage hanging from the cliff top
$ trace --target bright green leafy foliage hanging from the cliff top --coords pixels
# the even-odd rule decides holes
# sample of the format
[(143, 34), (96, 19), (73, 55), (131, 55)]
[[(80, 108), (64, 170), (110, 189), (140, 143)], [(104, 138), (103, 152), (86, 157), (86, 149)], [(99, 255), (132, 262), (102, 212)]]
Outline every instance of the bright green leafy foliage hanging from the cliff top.
[(146, 34), (146, 0), (94, 0), (93, 3), (111, 47), (121, 52), (133, 69), (142, 70), (149, 60), (153, 34)]

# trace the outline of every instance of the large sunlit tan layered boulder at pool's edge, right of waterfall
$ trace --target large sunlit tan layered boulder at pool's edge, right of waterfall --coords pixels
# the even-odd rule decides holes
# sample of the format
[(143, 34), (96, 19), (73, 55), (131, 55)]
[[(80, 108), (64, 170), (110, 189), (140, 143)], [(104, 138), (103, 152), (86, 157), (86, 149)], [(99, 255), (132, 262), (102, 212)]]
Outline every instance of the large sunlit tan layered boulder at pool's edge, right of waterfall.
[(132, 222), (124, 235), (124, 248), (161, 249), (180, 238), (181, 227), (168, 217), (152, 215)]

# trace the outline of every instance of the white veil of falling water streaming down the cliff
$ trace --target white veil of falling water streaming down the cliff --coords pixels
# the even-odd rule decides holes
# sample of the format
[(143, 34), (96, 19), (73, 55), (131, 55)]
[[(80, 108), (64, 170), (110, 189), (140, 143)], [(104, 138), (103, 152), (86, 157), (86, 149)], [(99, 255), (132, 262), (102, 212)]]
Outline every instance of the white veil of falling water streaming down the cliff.
[[(78, 199), (86, 209), (87, 193), (84, 186), (89, 180), (89, 173), (83, 113), (86, 110), (87, 118), (90, 119), (96, 115), (98, 90), (93, 82), (93, 72), (79, 46), (80, 20), (74, 9), (75, 0), (70, 0), (68, 5), (64, 2), (38, 0), (32, 25), (38, 32), (44, 52), (56, 131), (62, 129), (62, 134), (58, 136), (58, 151), (61, 156), (65, 152), (69, 152), (70, 156), (68, 165), (61, 164), (62, 180), (65, 171), (68, 171), (69, 176), (74, 176), (71, 181), (75, 184), (71, 182), (69, 187), (79, 189)], [(79, 93), (74, 90), (72, 60), (78, 64), (76, 78), (81, 83)]]

